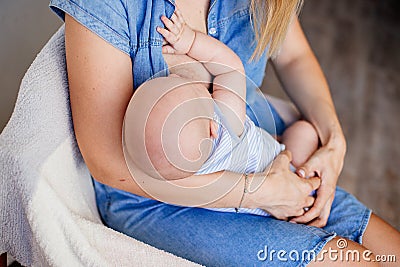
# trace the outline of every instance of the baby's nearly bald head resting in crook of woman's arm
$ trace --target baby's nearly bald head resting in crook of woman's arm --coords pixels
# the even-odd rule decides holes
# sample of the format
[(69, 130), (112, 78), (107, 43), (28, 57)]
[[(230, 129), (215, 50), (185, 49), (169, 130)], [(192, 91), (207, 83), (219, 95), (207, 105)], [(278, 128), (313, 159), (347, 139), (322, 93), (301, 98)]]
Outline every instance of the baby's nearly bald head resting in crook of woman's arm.
[[(143, 83), (133, 98), (136, 95), (136, 101), (131, 103), (133, 109), (128, 107), (127, 115), (139, 112), (135, 117), (145, 117), (142, 120), (144, 124), (139, 125), (142, 135), (136, 139), (143, 145), (131, 142), (132, 145), (125, 149), (138, 159), (137, 165), (140, 166), (137, 167), (152, 177), (168, 180), (197, 172), (211, 153), (211, 138), (217, 135), (217, 125), (212, 120), (213, 99), (207, 88), (170, 76)], [(135, 108), (135, 104), (146, 108)], [(126, 117), (124, 124), (126, 127), (127, 124), (135, 124), (135, 121)], [(126, 130), (124, 134), (126, 141), (135, 138)], [(138, 137), (137, 134), (135, 136)], [(139, 159), (139, 155), (147, 159)]]

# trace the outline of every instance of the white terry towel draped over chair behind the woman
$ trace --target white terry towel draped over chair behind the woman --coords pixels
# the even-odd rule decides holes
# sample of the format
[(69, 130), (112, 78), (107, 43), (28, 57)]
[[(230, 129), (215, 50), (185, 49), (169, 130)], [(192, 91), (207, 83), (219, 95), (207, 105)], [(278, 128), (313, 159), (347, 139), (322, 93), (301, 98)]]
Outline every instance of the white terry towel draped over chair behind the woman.
[(27, 266), (196, 266), (101, 223), (70, 114), (61, 27), (0, 135), (0, 254)]

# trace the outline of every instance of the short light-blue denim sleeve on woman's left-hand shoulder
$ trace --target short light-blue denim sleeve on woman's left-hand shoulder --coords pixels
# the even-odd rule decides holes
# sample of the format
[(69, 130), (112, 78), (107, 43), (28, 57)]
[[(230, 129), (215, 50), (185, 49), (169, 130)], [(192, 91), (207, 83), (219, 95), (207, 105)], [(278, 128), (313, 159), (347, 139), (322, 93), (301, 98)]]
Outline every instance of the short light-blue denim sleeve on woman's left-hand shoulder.
[(128, 15), (123, 0), (51, 0), (50, 8), (65, 20), (65, 13), (100, 38), (130, 55)]

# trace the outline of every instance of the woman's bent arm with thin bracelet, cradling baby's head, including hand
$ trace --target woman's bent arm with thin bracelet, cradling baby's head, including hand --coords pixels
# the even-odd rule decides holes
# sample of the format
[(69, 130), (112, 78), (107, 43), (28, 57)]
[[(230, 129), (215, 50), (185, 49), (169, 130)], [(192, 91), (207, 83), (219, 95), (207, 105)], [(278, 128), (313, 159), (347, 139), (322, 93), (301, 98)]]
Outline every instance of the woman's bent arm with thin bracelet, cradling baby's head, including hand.
[[(134, 179), (131, 176), (122, 150), (122, 123), (133, 94), (131, 60), (68, 15), (65, 24), (74, 130), (93, 177), (101, 183), (137, 195), (162, 197), (172, 204), (237, 207), (243, 195), (242, 174), (218, 172), (195, 175), (174, 181), (174, 184), (160, 184), (148, 179), (139, 173), (139, 168), (133, 170), (137, 177)], [(262, 177), (262, 182), (254, 193), (246, 196), (243, 207), (270, 209), (276, 217), (286, 218), (299, 215), (302, 207), (312, 204), (313, 199), (308, 195), (319, 186), (319, 179), (300, 179), (288, 171), (288, 166), (282, 168), (282, 164), (289, 164), (284, 154), (274, 162), (268, 175), (255, 175), (258, 180)], [(151, 186), (152, 183), (156, 186)], [(287, 184), (292, 185), (285, 189), (290, 201), (282, 199), (282, 194), (276, 196), (276, 192), (283, 192), (280, 188)], [(284, 208), (275, 211), (273, 207)]]

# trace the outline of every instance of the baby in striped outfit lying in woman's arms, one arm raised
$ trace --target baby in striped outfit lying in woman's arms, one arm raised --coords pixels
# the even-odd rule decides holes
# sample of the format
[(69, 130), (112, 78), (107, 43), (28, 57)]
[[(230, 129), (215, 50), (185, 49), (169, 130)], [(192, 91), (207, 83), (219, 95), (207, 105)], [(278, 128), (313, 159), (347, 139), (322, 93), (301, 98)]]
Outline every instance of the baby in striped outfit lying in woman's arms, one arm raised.
[[(244, 68), (230, 48), (189, 28), (178, 9), (171, 19), (161, 20), (165, 28), (157, 31), (167, 41), (163, 52), (201, 62), (213, 80), (211, 94), (205, 82), (176, 74), (149, 80), (136, 90), (124, 120), (124, 152), (142, 171), (167, 180), (222, 170), (263, 172), (285, 146), (294, 167), (317, 149), (318, 135), (305, 121), (291, 125), (280, 144), (246, 116)], [(141, 118), (130, 126), (129, 114)], [(260, 209), (241, 211), (268, 215)]]

